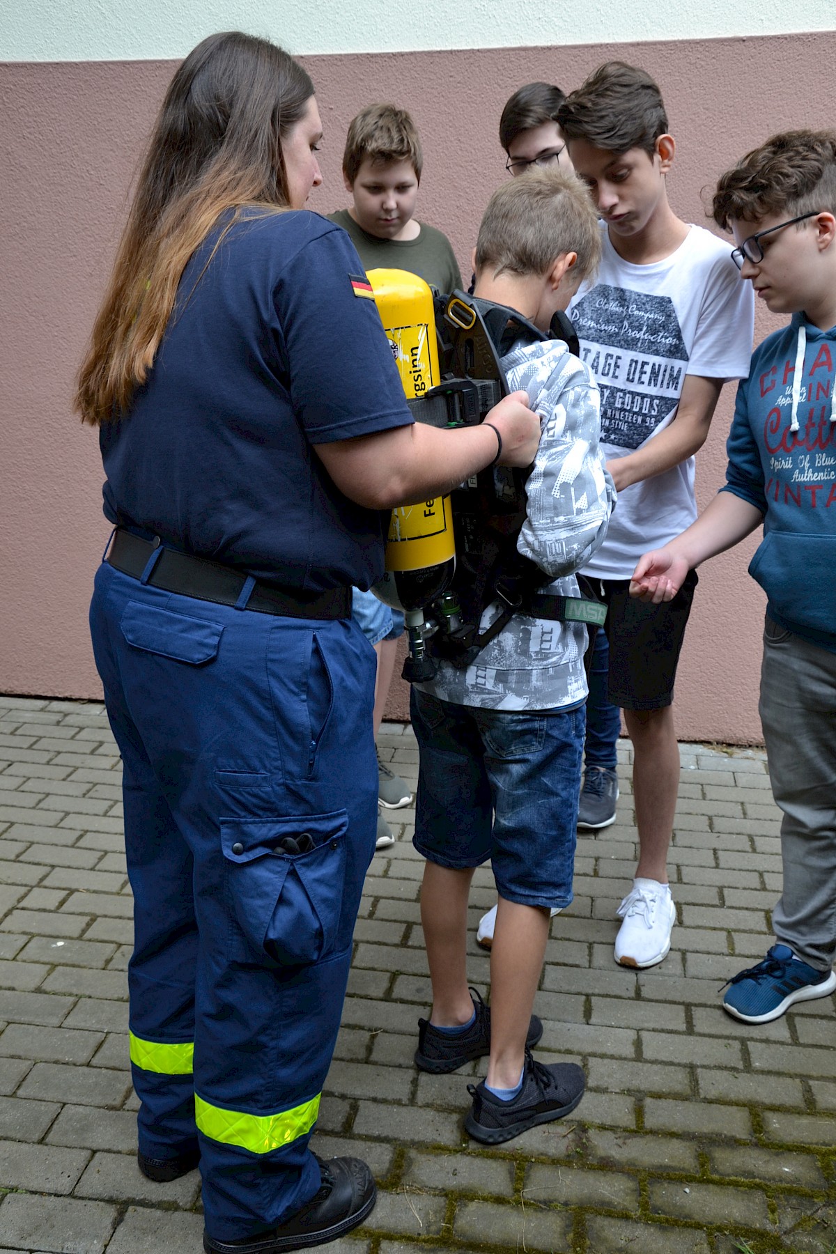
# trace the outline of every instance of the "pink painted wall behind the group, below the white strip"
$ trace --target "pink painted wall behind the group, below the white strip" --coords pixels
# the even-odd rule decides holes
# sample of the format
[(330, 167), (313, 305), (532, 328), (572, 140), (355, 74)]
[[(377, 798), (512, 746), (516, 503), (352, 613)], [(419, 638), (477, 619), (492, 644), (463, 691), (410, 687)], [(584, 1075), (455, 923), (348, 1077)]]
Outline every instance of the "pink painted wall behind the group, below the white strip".
[[(481, 208), (506, 177), (495, 135), (506, 97), (535, 78), (572, 89), (612, 56), (644, 65), (662, 87), (679, 143), (671, 197), (693, 222), (706, 222), (703, 189), (708, 199), (714, 177), (742, 152), (772, 130), (832, 122), (836, 34), (307, 58), (326, 128), (325, 186), (311, 207), (346, 203), (340, 159), (348, 119), (371, 99), (394, 99), (412, 110), (422, 134), (419, 216), (447, 232), (464, 272)], [(73, 416), (70, 396), (173, 66), (0, 65), (0, 691), (100, 695), (86, 604), (108, 528), (95, 433)], [(758, 339), (773, 325), (762, 317)], [(732, 399), (727, 389), (698, 460), (703, 503), (722, 482)], [(760, 739), (763, 598), (746, 574), (752, 548), (703, 568), (678, 682), (683, 739)]]

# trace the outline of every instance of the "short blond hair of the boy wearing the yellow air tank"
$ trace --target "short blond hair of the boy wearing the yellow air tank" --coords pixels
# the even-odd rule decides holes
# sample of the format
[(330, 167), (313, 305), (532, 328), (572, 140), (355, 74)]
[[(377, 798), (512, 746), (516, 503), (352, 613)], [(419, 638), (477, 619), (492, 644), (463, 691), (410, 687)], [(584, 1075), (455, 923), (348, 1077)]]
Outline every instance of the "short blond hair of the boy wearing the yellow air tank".
[(578, 282), (598, 268), (598, 213), (575, 174), (531, 171), (494, 192), (479, 227), (478, 273), (545, 275), (564, 252), (578, 253)]

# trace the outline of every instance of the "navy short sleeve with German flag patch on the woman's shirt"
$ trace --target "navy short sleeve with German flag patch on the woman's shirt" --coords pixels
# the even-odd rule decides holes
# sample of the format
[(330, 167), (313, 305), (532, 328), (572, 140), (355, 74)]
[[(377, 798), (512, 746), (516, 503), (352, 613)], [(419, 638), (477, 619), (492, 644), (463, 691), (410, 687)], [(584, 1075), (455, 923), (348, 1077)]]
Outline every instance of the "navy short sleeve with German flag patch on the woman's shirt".
[(293, 413), (311, 444), (414, 421), (366, 273), (341, 229), (310, 240), (273, 290)]

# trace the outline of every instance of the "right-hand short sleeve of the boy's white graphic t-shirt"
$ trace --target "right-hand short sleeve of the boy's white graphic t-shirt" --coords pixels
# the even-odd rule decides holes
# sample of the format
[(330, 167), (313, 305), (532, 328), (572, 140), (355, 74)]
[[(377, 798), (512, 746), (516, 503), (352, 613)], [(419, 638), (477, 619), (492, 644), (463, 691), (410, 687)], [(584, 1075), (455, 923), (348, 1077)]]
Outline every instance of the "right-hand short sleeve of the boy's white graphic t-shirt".
[[(694, 276), (696, 277), (696, 276)], [(746, 379), (755, 336), (755, 293), (726, 256), (714, 256), (686, 374)]]

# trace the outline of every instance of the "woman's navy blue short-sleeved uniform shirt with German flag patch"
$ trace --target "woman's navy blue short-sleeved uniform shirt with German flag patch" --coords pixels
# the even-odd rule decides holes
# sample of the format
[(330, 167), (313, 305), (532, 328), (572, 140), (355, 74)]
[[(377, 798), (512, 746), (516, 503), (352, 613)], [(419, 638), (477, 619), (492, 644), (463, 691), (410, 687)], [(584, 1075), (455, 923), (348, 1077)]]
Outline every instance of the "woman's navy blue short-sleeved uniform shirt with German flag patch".
[[(113, 523), (287, 587), (367, 588), (389, 513), (311, 448), (412, 421), (348, 236), (249, 211), (191, 258), (128, 414), (100, 428)], [(211, 260), (209, 260), (211, 258)], [(360, 288), (357, 288), (360, 291)]]

